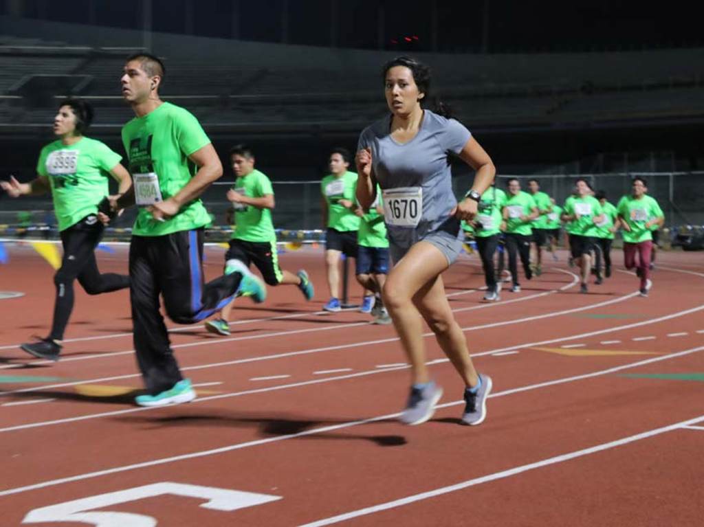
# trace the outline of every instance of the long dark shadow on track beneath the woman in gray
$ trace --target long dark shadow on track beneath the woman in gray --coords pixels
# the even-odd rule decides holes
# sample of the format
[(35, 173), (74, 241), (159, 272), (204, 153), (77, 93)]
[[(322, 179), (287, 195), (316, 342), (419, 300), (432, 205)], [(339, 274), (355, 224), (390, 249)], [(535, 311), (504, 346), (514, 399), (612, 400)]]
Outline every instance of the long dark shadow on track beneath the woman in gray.
[[(147, 417), (147, 416), (130, 416), (119, 417), (117, 421), (127, 423), (143, 423), (151, 424), (151, 428), (162, 428), (163, 426), (224, 426), (224, 427), (240, 427), (240, 428), (258, 428), (260, 436), (295, 436), (302, 434), (313, 428), (334, 426), (336, 424), (345, 424), (349, 421), (334, 420), (334, 419), (291, 419), (287, 417), (268, 418), (268, 417), (228, 417), (225, 415), (172, 415), (167, 417)], [(375, 423), (384, 423), (396, 421), (375, 421)], [(311, 430), (312, 431), (312, 430)], [(408, 441), (403, 436), (365, 436), (363, 434), (347, 435), (344, 433), (321, 432), (310, 433), (303, 435), (300, 439), (335, 439), (335, 440), (367, 440), (382, 447), (394, 447), (406, 445)]]

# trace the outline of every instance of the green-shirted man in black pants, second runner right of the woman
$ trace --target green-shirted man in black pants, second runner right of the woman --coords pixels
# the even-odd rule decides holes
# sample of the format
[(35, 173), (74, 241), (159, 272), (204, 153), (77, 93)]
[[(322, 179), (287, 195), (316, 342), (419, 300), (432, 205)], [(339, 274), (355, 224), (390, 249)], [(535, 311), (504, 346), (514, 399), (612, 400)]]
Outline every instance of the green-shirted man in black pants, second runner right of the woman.
[(526, 279), (533, 277), (530, 268), (530, 241), (533, 231), (531, 222), (538, 217), (538, 208), (533, 196), (521, 190), (517, 178), (512, 177), (507, 182), (508, 195), (503, 202), (503, 224), (505, 225), (506, 250), (508, 251), (508, 269), (513, 280), (512, 293), (518, 293), (521, 285), (518, 281), (516, 253), (520, 255)]

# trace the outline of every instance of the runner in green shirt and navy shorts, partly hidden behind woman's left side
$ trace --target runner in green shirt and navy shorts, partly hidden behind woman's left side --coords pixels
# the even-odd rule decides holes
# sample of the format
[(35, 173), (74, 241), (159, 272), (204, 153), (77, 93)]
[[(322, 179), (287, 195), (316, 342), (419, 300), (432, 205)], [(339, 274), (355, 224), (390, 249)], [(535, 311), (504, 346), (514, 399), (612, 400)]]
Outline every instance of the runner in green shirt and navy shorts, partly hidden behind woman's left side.
[[(355, 185), (356, 194), (356, 185)], [(356, 277), (359, 284), (372, 294), (365, 294), (360, 311), (370, 313), (375, 324), (391, 324), (389, 312), (382, 301), (382, 288), (389, 274), (389, 239), (386, 237), (382, 189), (377, 184), (377, 198), (363, 209), (357, 232)], [(357, 198), (355, 196), (355, 203)]]

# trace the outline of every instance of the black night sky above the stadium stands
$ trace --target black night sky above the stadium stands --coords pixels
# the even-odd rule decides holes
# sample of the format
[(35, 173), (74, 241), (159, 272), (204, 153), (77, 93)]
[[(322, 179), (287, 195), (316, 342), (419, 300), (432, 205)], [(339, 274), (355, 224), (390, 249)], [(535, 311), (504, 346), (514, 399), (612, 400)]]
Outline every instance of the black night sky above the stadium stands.
[[(241, 39), (281, 42), (286, 0), (151, 0), (153, 30), (231, 38), (233, 5), (239, 5)], [(11, 0), (0, 0), (8, 13)], [(384, 0), (386, 49), (430, 51), (429, 1)], [(23, 15), (63, 22), (138, 28), (142, 0), (23, 0)], [(378, 46), (379, 0), (337, 1), (339, 46)], [(617, 0), (436, 1), (438, 51), (479, 51), (484, 6), (489, 5), (489, 51), (603, 51), (703, 46), (695, 1), (659, 2), (655, 7)], [(287, 42), (327, 46), (330, 0), (288, 0)], [(416, 36), (410, 44), (403, 37)], [(394, 44), (392, 41), (398, 42)]]

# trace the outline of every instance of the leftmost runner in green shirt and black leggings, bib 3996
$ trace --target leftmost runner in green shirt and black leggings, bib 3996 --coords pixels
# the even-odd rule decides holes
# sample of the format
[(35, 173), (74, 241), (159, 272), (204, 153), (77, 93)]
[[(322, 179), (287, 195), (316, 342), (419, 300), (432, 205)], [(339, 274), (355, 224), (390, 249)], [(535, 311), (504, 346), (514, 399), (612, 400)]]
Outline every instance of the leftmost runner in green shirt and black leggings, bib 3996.
[(119, 182), (120, 193), (130, 189), (132, 180), (120, 165), (122, 157), (118, 153), (83, 135), (92, 119), (93, 110), (85, 101), (61, 101), (54, 117), (54, 134), (58, 140), (42, 148), (37, 179), (20, 183), (11, 177), (9, 182), (0, 182), (1, 188), (13, 198), (51, 191), (54, 201), (63, 246), (61, 267), (54, 275), (54, 322), (49, 336), (20, 345), (34, 357), (47, 360), (59, 359), (63, 334), (73, 311), (76, 279), (89, 295), (130, 286), (125, 274), (101, 274), (95, 258), (95, 248), (103, 236), (98, 207), (109, 194), (108, 177)]

